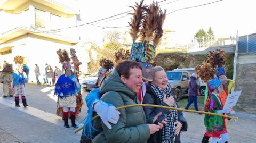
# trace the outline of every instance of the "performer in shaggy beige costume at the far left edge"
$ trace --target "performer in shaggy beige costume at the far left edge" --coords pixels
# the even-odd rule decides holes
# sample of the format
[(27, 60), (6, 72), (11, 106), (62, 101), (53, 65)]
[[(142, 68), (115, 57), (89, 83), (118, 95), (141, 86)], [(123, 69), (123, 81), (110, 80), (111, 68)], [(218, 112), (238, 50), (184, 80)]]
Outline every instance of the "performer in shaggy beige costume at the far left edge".
[(3, 83), (3, 97), (13, 97), (13, 91), (11, 90), (12, 84), (12, 74), (13, 74), (12, 64), (6, 63), (3, 70), (0, 72), (0, 83)]

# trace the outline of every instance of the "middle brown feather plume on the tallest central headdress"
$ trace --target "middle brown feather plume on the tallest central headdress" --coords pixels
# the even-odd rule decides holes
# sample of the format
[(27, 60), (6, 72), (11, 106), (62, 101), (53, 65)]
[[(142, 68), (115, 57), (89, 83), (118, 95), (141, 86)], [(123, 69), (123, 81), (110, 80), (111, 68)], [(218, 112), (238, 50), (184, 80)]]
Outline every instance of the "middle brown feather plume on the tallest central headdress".
[(157, 2), (153, 2), (153, 4), (145, 6), (143, 9), (145, 9), (146, 15), (145, 19), (143, 20), (141, 36), (145, 37), (142, 37), (144, 41), (141, 42), (150, 43), (153, 37), (155, 36), (155, 30), (157, 28), (159, 6)]

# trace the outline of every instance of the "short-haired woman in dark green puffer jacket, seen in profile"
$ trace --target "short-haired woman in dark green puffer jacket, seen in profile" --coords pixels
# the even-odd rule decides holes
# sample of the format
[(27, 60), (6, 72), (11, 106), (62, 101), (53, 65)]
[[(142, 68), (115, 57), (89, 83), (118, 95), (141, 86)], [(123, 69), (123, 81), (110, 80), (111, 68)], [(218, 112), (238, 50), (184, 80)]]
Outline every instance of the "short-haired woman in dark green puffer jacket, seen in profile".
[[(125, 60), (119, 63), (109, 77), (103, 81), (100, 94), (101, 100), (113, 104), (115, 107), (139, 104), (137, 93), (142, 84), (141, 66), (138, 62)], [(120, 118), (116, 124), (111, 124), (108, 129), (105, 124), (97, 119), (94, 127), (103, 130), (92, 140), (95, 142), (144, 142), (149, 139), (150, 134), (162, 129), (163, 124), (153, 124), (161, 115), (154, 119), (146, 120), (142, 107), (131, 107), (119, 110)], [(98, 124), (97, 124), (98, 123)], [(148, 124), (147, 124), (148, 123)]]

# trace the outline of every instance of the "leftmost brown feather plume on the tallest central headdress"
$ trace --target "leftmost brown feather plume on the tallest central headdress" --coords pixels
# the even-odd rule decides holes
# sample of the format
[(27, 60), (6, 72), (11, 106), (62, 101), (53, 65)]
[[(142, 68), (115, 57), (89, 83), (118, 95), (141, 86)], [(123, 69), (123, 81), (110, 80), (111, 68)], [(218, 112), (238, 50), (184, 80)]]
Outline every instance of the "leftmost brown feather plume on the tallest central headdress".
[(132, 41), (134, 42), (138, 37), (139, 37), (139, 31), (140, 31), (140, 27), (141, 27), (141, 22), (142, 22), (142, 19), (144, 18), (144, 11), (145, 9), (143, 9), (143, 7), (145, 5), (142, 5), (143, 4), (143, 1), (142, 0), (140, 2), (140, 4), (138, 4), (136, 2), (136, 5), (133, 6), (129, 6), (129, 7), (132, 7), (132, 9), (134, 10), (134, 13), (128, 13), (128, 14), (131, 14), (133, 15), (133, 17), (131, 18), (131, 22), (128, 22), (129, 25), (131, 26), (130, 28), (130, 35), (132, 37)]

